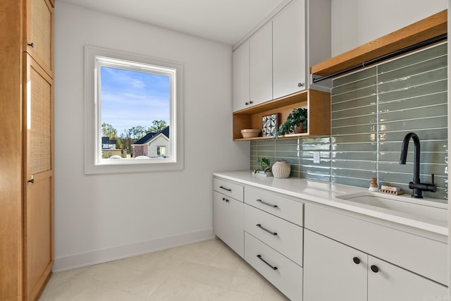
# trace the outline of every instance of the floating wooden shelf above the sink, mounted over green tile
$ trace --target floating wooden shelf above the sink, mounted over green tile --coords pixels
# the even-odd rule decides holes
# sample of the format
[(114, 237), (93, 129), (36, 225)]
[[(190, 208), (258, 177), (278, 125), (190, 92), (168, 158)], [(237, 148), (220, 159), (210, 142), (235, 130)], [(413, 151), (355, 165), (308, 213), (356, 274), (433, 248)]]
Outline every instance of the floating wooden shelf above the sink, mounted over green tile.
[(447, 10), (311, 66), (310, 73), (330, 75), (445, 33), (447, 33)]

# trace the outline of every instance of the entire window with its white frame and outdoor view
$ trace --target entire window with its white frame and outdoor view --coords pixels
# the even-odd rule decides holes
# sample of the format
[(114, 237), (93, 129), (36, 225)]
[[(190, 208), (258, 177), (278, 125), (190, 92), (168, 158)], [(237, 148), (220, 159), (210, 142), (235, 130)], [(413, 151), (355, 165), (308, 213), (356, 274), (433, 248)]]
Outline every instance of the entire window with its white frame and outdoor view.
[(85, 173), (183, 169), (183, 64), (85, 46)]

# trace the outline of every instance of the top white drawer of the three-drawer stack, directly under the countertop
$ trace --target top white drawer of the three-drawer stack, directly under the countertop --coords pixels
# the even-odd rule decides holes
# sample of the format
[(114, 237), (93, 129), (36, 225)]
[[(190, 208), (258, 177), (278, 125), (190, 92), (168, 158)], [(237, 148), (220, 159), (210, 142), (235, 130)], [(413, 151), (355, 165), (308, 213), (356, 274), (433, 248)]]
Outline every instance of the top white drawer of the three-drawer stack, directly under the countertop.
[(265, 190), (247, 187), (245, 190), (245, 203), (299, 226), (303, 224), (304, 204), (301, 202), (273, 195)]

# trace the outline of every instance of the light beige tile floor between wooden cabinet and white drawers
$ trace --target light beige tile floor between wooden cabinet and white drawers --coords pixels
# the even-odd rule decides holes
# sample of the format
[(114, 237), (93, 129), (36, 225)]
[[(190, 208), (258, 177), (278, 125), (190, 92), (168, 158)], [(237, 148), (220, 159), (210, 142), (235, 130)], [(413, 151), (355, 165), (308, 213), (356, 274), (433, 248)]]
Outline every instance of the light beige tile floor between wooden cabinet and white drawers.
[(47, 300), (288, 300), (221, 240), (53, 274)]

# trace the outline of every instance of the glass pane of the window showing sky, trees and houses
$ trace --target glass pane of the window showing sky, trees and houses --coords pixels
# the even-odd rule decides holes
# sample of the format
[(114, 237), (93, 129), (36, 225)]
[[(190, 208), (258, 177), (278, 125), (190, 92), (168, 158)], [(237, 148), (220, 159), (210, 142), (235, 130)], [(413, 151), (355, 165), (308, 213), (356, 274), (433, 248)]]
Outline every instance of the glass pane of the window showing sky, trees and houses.
[(100, 78), (102, 158), (164, 158), (157, 148), (170, 148), (171, 78), (109, 66)]

